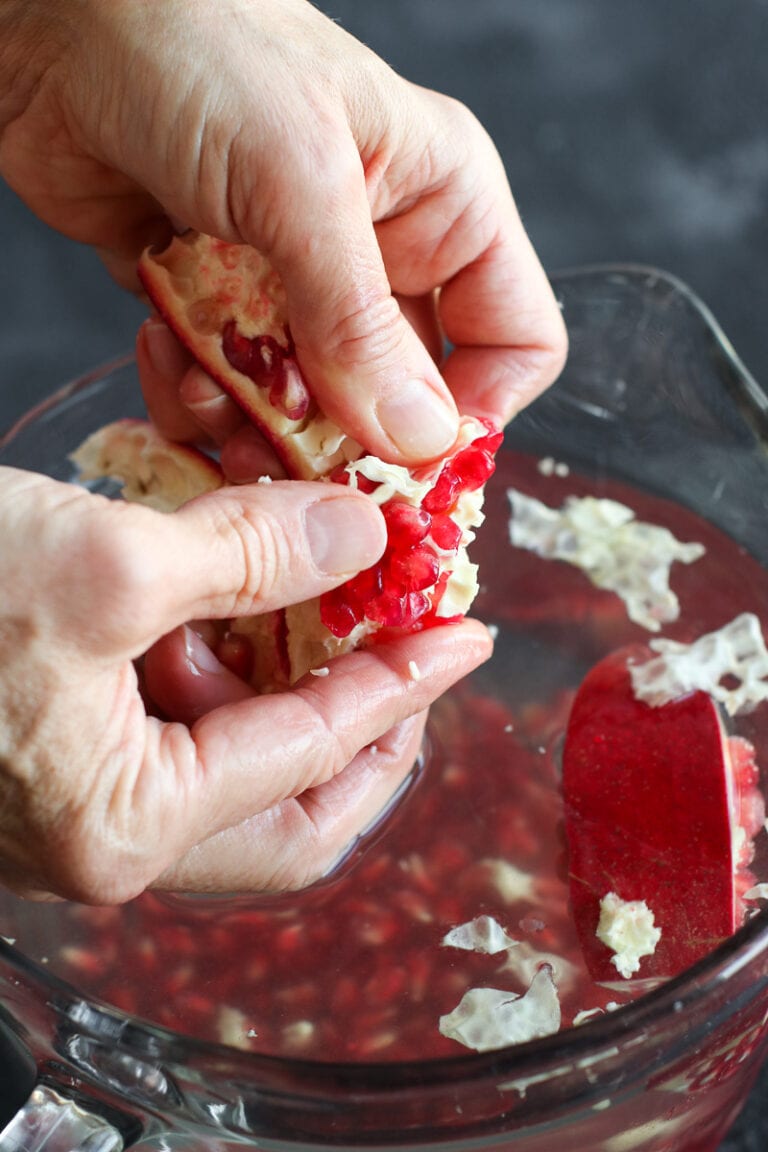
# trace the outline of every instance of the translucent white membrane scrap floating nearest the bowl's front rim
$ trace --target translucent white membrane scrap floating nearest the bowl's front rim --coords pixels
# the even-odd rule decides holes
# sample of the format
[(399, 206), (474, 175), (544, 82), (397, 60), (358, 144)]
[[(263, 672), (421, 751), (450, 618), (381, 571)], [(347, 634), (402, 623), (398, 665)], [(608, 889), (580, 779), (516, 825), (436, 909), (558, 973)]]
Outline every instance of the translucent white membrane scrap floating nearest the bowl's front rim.
[(525, 1044), (560, 1030), (561, 1009), (552, 970), (540, 968), (523, 995), (501, 988), (470, 988), (451, 1013), (440, 1017), (440, 1031), (476, 1052)]

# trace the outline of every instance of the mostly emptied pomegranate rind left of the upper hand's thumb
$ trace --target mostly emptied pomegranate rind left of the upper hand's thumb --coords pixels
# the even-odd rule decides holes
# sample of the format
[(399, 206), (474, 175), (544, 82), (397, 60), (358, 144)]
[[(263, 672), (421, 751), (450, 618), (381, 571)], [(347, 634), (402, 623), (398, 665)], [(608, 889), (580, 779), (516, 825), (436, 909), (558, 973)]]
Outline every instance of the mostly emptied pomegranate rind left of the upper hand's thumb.
[[(292, 354), (284, 290), (256, 249), (190, 232), (161, 252), (147, 249), (138, 274), (168, 327), (273, 445), (289, 476), (317, 479), (362, 455), (360, 445), (311, 396)], [(233, 325), (244, 340), (264, 341), (267, 377), (282, 372), (289, 393), (306, 391), (306, 409), (298, 418), (271, 400), (266, 377), (257, 382), (227, 358), (223, 336)]]

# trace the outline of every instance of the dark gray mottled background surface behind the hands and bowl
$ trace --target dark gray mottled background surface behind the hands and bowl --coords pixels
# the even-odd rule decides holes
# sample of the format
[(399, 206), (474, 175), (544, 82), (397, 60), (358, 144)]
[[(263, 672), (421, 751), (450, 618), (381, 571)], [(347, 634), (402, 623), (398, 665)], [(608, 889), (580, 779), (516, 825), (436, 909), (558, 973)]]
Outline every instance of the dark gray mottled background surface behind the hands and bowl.
[[(545, 266), (657, 265), (768, 385), (768, 0), (326, 0), (469, 104)], [(144, 314), (0, 183), (0, 426), (132, 343)], [(765, 1152), (753, 1098), (723, 1152)], [(763, 1119), (765, 1117), (765, 1119)]]

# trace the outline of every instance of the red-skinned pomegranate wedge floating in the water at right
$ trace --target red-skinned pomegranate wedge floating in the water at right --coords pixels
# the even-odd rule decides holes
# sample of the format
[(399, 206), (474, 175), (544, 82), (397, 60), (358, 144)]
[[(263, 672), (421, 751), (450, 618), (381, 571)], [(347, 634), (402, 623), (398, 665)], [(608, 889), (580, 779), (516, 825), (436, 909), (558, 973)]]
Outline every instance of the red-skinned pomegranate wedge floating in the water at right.
[(629, 667), (649, 655), (629, 646), (590, 672), (563, 750), (571, 905), (603, 982), (623, 964), (598, 929), (606, 939), (606, 919), (624, 902), (631, 915), (644, 902), (661, 932), (632, 965), (640, 978), (675, 976), (740, 926), (765, 814), (753, 750), (727, 735), (706, 692), (662, 707), (636, 698)]

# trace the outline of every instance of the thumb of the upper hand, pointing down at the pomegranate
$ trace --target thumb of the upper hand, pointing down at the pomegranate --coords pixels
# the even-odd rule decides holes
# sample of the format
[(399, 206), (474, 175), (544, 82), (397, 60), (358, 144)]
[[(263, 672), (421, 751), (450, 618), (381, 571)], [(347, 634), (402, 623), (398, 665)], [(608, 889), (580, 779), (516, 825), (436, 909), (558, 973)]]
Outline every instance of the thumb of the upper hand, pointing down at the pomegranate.
[(363, 164), (351, 137), (321, 179), (297, 181), (269, 251), (286, 286), (296, 353), (320, 406), (393, 463), (433, 460), (458, 416), (434, 361), (400, 311), (377, 241)]

